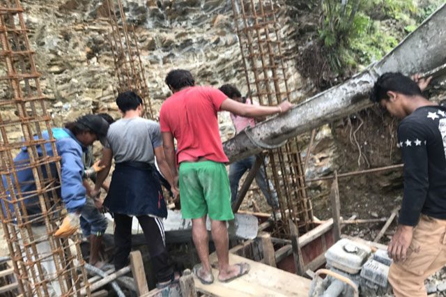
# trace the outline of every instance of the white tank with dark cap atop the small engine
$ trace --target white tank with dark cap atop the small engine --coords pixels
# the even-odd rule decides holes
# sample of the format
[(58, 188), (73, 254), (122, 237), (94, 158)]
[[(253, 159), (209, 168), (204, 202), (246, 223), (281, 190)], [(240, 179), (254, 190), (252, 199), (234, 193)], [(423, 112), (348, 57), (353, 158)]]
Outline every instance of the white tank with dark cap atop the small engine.
[(325, 252), (325, 259), (330, 267), (346, 273), (357, 274), (370, 254), (371, 249), (367, 245), (342, 238)]

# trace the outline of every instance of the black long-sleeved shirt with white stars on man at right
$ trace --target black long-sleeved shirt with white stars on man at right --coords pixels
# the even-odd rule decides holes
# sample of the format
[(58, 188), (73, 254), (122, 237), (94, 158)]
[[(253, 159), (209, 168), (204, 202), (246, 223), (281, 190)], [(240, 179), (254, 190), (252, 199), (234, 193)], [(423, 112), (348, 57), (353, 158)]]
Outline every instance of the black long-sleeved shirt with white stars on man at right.
[(398, 138), (404, 162), (400, 222), (416, 224), (419, 215), (416, 209), (445, 220), (446, 109), (438, 106), (416, 109), (401, 121)]

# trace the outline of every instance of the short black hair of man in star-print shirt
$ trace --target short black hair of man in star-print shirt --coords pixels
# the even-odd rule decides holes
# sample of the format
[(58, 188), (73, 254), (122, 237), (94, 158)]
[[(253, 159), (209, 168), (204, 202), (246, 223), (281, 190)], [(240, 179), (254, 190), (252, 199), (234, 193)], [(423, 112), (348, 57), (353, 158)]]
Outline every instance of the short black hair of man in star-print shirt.
[(420, 87), (410, 77), (401, 73), (384, 73), (375, 82), (369, 98), (371, 102), (379, 103), (380, 100), (389, 99), (388, 91), (394, 91), (406, 96), (422, 96)]

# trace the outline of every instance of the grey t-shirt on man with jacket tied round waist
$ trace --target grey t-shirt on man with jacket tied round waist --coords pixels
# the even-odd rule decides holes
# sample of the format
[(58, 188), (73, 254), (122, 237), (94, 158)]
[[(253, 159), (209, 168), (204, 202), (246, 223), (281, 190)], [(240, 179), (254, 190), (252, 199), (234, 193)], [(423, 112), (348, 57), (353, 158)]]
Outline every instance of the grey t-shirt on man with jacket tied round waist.
[(120, 119), (110, 125), (107, 142), (116, 163), (137, 161), (153, 164), (153, 148), (162, 145), (160, 125), (140, 117)]

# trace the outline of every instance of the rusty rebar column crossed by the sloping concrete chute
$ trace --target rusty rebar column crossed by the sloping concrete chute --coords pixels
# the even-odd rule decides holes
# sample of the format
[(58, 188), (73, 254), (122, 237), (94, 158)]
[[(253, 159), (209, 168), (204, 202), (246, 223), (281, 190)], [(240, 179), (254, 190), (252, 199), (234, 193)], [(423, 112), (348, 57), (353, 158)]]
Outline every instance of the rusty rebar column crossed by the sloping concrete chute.
[[(292, 101), (276, 19), (279, 6), (274, 0), (232, 0), (232, 7), (248, 94), (261, 105), (277, 105), (284, 99)], [(313, 211), (307, 197), (298, 138), (270, 149), (268, 155), (266, 172), (275, 183), (284, 223), (279, 233), (289, 235), (288, 219), (308, 231)]]

